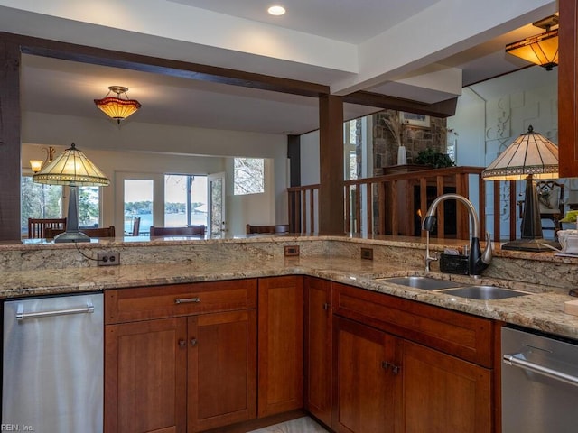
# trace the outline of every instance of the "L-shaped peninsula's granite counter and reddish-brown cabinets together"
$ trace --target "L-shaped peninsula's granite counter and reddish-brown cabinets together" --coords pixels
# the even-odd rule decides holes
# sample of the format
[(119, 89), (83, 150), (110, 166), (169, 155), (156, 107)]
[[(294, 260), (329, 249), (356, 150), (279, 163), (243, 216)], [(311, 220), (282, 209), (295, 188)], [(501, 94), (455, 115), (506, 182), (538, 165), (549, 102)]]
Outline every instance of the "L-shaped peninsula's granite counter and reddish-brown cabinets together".
[[(433, 249), (442, 251), (445, 245), (455, 243), (444, 241), (433, 244)], [(299, 255), (285, 256), (286, 247)], [(361, 258), (362, 248), (364, 256), (371, 250), (372, 260)], [(87, 258), (101, 251), (120, 253), (121, 264), (96, 266)], [(189, 353), (189, 361), (172, 348), (181, 343), (175, 345), (171, 338), (148, 340), (149, 344), (160, 345), (155, 357), (162, 355), (164, 363), (176, 363), (177, 373), (169, 381), (172, 387), (167, 383), (163, 391), (167, 395), (174, 395), (174, 390), (186, 394), (176, 399), (179, 404), (174, 423), (171, 420), (167, 424), (176, 426), (174, 431), (181, 431), (185, 425), (190, 431), (204, 431), (303, 408), (335, 431), (363, 431), (348, 410), (362, 413), (363, 422), (375, 419), (379, 425), (391, 422), (408, 429), (419, 428), (424, 419), (407, 418), (406, 412), (418, 409), (414, 405), (420, 399), (415, 396), (423, 392), (418, 389), (423, 388), (423, 374), (447, 384), (448, 392), (470, 390), (459, 410), (456, 401), (452, 401), (452, 408), (437, 407), (443, 404), (437, 395), (429, 395), (426, 400), (440, 413), (458, 414), (459, 419), (454, 421), (459, 431), (493, 431), (491, 426), (499, 424), (499, 410), (493, 402), (499, 392), (499, 374), (495, 373), (499, 327), (509, 323), (578, 339), (578, 317), (564, 314), (564, 301), (573, 299), (568, 290), (578, 281), (576, 259), (550, 253), (496, 251), (479, 282), (533, 293), (499, 300), (458, 298), (378, 281), (388, 276), (426, 274), (424, 240), (418, 237), (126, 238), (79, 244), (78, 249), (77, 245), (39, 241), (2, 245), (0, 257), (0, 293), (5, 298), (104, 290), (108, 304), (107, 433), (127, 431), (122, 422), (134, 422), (115, 410), (126, 407), (126, 396), (119, 393), (119, 383), (126, 383), (123, 381), (130, 377), (122, 373), (126, 370), (124, 356), (135, 356), (140, 361), (146, 355), (131, 339), (135, 335), (141, 338), (144, 326), (151, 330), (152, 337), (185, 333), (182, 354)], [(446, 280), (470, 279), (431, 274)], [(158, 327), (163, 328), (162, 332)], [(219, 352), (215, 345), (210, 345), (215, 349), (210, 353), (200, 349), (207, 347), (207, 340), (201, 336), (217, 336), (225, 330), (234, 336), (227, 340), (225, 353), (240, 350), (245, 354), (240, 357), (241, 365), (226, 365), (246, 378), (240, 388), (227, 395), (239, 396), (237, 403), (240, 397), (248, 396), (250, 404), (238, 404), (237, 410), (220, 413), (219, 405), (227, 399), (202, 405), (210, 400), (208, 395), (216, 385), (207, 382), (213, 376), (200, 372), (222, 360), (214, 356)], [(247, 345), (238, 345), (239, 341)], [(281, 344), (283, 349), (276, 346)], [(335, 349), (337, 346), (340, 350)], [(258, 350), (245, 352), (246, 347)], [(371, 369), (364, 368), (367, 393), (360, 395), (359, 401), (348, 400), (347, 390), (357, 379), (348, 374), (346, 365), (357, 359), (356, 354), (374, 351), (376, 356), (383, 356), (382, 373), (374, 377)], [(356, 362), (371, 364), (372, 356), (362, 356)], [(303, 365), (300, 360), (304, 371), (299, 367)], [(161, 373), (165, 366), (155, 371)], [(440, 366), (444, 366), (442, 373)], [(111, 378), (111, 371), (118, 376)], [(403, 382), (400, 377), (405, 378)], [(188, 391), (178, 385), (182, 381), (188, 383)], [(362, 401), (376, 391), (374, 385), (392, 393), (371, 410)], [(387, 419), (383, 419), (386, 415), (381, 403), (392, 401), (388, 399), (403, 401), (406, 410), (386, 410)], [(111, 413), (116, 415), (111, 417)], [(442, 422), (431, 417), (428, 420), (438, 421)], [(476, 427), (470, 430), (460, 426)], [(150, 427), (135, 431), (154, 431)]]

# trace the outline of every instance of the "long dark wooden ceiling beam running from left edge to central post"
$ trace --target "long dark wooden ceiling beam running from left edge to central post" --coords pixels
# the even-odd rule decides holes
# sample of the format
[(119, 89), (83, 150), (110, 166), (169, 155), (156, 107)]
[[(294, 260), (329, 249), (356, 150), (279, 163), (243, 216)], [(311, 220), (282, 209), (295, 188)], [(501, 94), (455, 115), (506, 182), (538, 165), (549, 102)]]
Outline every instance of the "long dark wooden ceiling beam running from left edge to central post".
[(328, 86), (297, 79), (271, 77), (254, 72), (219, 68), (181, 60), (160, 59), (124, 51), (77, 45), (69, 42), (48, 41), (13, 33), (0, 32), (0, 41), (12, 41), (20, 45), (25, 54), (53, 59), (79, 61), (112, 68), (132, 69), (179, 78), (198, 79), (215, 83), (259, 88), (275, 92), (319, 97), (330, 92)]

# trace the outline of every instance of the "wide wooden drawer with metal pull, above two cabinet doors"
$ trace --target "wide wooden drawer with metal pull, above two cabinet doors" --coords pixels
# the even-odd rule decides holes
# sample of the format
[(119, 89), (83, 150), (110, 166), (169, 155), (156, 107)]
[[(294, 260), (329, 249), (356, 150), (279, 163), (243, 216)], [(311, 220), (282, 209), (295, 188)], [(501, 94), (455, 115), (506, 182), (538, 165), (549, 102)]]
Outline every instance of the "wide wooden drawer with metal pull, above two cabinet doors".
[(230, 280), (107, 290), (106, 323), (256, 308), (256, 280)]

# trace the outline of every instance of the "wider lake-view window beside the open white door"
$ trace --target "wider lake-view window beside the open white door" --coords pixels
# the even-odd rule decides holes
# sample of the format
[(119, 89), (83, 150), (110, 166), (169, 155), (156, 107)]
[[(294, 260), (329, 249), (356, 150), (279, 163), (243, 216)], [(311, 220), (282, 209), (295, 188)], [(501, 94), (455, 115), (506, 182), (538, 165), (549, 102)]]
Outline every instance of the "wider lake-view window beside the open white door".
[(164, 226), (207, 226), (207, 177), (164, 176)]

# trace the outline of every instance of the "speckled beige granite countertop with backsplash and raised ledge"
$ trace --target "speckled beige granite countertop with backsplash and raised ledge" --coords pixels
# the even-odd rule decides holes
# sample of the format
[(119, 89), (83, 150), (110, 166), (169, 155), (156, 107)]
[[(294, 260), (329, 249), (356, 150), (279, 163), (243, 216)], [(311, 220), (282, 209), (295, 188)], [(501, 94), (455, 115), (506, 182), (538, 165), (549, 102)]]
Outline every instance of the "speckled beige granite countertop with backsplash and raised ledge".
[[(39, 296), (89, 290), (222, 281), (280, 275), (310, 275), (368, 290), (415, 299), (448, 309), (503, 320), (578, 339), (578, 318), (564, 314), (568, 290), (578, 284), (578, 259), (552, 253), (494, 252), (482, 281), (508, 283), (508, 287), (536, 291), (536, 296), (476, 301), (450, 299), (439, 293), (388, 286), (378, 277), (424, 274), (424, 239), (376, 236), (256, 236), (225, 239), (184, 237), (153, 240), (117, 238), (90, 244), (0, 245), (0, 297)], [(433, 240), (433, 250), (463, 241)], [(298, 256), (284, 256), (284, 247), (299, 246)], [(361, 248), (373, 249), (373, 260), (361, 259)], [(121, 264), (98, 267), (97, 252), (115, 251)], [(449, 278), (449, 274), (443, 274)]]

